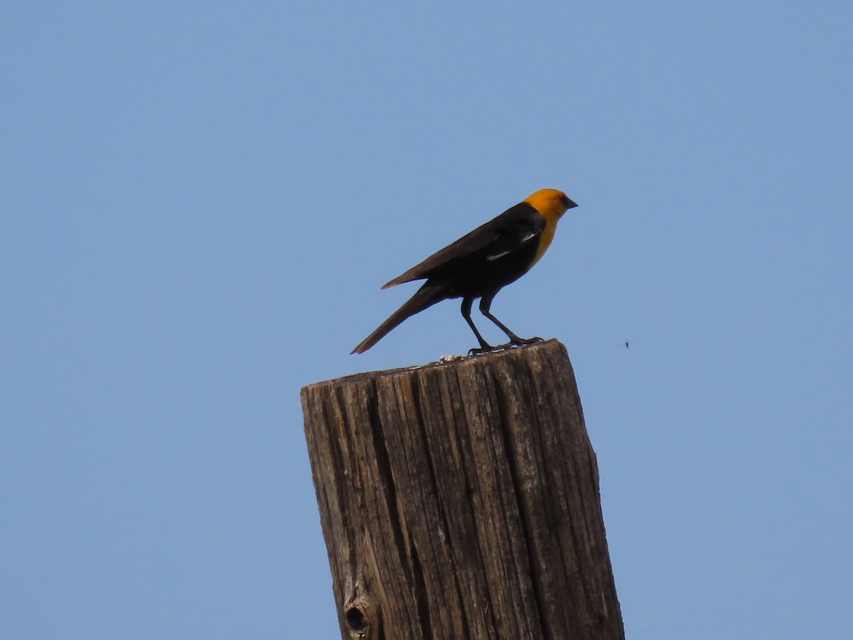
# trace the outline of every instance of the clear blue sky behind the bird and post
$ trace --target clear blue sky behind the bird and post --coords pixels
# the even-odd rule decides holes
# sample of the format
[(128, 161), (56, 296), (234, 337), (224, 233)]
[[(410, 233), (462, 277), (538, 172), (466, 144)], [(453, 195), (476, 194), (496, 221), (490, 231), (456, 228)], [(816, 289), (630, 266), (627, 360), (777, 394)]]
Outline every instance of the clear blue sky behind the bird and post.
[(0, 636), (338, 637), (299, 387), (474, 346), (453, 302), (349, 355), (547, 186), (492, 309), (568, 348), (628, 637), (849, 637), (851, 26), (5, 3)]

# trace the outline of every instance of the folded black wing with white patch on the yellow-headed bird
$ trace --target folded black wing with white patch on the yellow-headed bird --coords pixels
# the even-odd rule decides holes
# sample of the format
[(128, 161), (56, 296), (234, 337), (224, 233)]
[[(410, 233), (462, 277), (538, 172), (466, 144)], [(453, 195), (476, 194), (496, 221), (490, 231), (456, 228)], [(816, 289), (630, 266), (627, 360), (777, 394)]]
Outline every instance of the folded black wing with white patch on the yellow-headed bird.
[(487, 265), (492, 260), (530, 247), (531, 243), (537, 242), (544, 228), (545, 218), (542, 214), (526, 202), (521, 202), (456, 242), (439, 249), (421, 264), (386, 282), (382, 288)]

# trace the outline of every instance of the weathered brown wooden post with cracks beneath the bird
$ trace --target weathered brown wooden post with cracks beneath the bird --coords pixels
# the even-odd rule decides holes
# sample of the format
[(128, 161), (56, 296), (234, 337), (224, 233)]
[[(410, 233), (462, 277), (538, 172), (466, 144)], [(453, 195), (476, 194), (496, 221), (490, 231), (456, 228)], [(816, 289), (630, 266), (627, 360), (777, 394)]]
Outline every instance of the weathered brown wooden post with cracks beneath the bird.
[(302, 389), (345, 639), (624, 638), (556, 340)]

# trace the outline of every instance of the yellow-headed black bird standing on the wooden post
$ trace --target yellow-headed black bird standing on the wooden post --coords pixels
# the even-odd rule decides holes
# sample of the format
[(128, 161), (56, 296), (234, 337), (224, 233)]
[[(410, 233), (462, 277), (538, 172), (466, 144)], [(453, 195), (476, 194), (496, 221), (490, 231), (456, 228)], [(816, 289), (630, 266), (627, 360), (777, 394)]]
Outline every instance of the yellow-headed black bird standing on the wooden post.
[[(539, 189), (409, 271), (386, 282), (383, 289), (403, 282), (427, 281), (351, 353), (366, 352), (406, 318), (441, 300), (454, 298), (462, 299), (462, 317), (479, 341), (479, 347), (471, 349), (468, 355), (541, 341), (538, 337), (525, 339), (515, 335), (492, 315), (491, 301), (498, 291), (515, 282), (542, 258), (554, 240), (557, 221), (572, 207), (577, 207), (577, 204), (559, 189)], [(478, 298), (479, 310), (507, 335), (507, 344), (491, 346), (473, 323), (471, 307)]]

